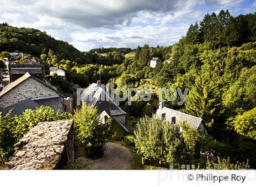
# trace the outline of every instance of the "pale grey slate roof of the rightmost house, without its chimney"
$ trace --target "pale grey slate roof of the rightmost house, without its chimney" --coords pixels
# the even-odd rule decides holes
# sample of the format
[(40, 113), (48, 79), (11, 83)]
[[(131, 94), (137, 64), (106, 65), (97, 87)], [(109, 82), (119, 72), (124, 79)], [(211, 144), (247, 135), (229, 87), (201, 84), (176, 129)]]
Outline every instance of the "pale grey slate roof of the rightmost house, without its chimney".
[(160, 114), (164, 114), (165, 113), (165, 118), (168, 120), (171, 120), (171, 117), (175, 117), (176, 118), (176, 122), (184, 122), (187, 121), (187, 123), (198, 129), (199, 125), (201, 124), (201, 122), (203, 121), (203, 119), (198, 118), (196, 116), (192, 116), (183, 112), (179, 112), (177, 110), (174, 109), (169, 109), (167, 107), (164, 107), (163, 109), (157, 109), (156, 114), (160, 115)]

